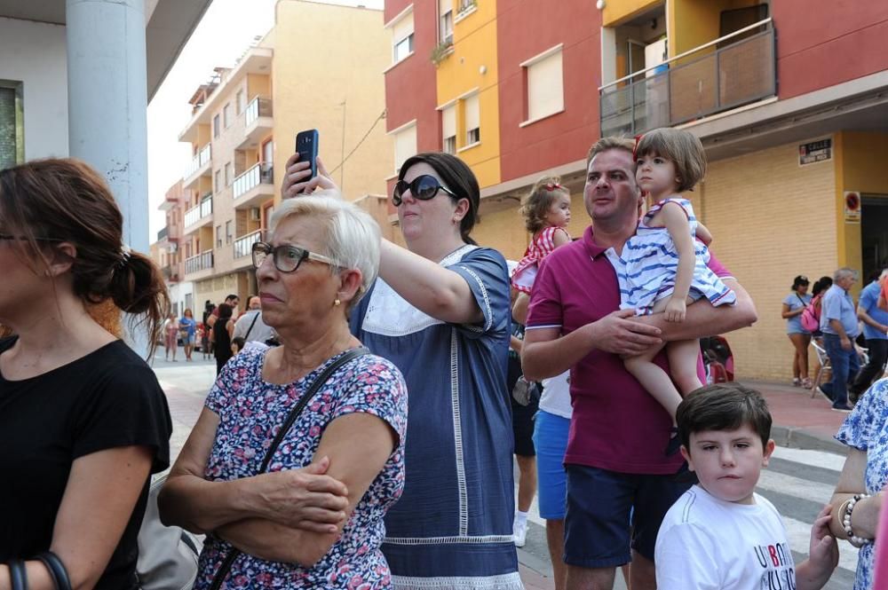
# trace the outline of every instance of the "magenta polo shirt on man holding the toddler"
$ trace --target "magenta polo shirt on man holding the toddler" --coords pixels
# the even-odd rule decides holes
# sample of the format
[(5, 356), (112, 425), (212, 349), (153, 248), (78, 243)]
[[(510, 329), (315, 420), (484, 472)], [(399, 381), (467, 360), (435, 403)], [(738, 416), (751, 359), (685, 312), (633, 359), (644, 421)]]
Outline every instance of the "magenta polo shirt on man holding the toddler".
[[(710, 269), (731, 275), (715, 256)], [(620, 287), (614, 267), (592, 240), (591, 226), (583, 239), (566, 244), (543, 259), (531, 293), (527, 329), (559, 327), (561, 334), (597, 321), (620, 309)], [(665, 352), (654, 358), (668, 370)], [(702, 360), (698, 373), (703, 381)], [(570, 371), (570, 421), (565, 463), (622, 473), (672, 474), (681, 455), (666, 458), (669, 413), (626, 371), (622, 359), (592, 350)]]

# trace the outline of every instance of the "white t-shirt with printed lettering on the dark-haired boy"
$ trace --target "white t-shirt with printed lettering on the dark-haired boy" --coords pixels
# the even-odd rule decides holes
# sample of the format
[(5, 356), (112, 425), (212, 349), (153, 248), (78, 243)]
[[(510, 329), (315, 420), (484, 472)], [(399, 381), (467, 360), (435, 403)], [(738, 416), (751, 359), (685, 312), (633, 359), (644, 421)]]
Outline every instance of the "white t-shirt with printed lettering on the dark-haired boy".
[(666, 513), (654, 552), (658, 590), (795, 588), (796, 566), (773, 504), (718, 500), (699, 485)]

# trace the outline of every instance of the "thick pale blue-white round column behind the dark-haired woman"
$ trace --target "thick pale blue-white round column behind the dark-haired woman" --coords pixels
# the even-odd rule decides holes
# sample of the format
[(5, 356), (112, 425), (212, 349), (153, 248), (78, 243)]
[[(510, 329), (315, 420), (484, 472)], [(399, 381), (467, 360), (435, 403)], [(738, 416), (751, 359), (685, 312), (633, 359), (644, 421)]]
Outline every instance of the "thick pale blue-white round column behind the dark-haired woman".
[(148, 252), (144, 0), (66, 0), (68, 147), (105, 175), (123, 242)]

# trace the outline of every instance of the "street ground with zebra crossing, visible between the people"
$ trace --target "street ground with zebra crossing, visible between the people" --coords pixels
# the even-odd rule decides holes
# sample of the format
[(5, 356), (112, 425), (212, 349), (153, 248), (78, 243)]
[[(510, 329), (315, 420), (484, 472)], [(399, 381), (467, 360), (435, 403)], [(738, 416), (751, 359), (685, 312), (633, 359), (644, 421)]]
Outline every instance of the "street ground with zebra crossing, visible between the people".
[[(194, 353), (193, 358), (194, 361), (186, 362), (184, 355), (179, 354), (178, 361), (171, 362), (164, 360), (160, 353), (155, 355), (153, 363), (172, 414), (170, 450), (173, 457), (178, 456), (185, 444), (216, 375), (214, 359), (203, 360), (200, 353)], [(832, 411), (825, 399), (811, 397), (806, 389), (769, 382), (746, 384), (761, 391), (767, 399), (773, 414), (772, 436), (778, 444), (770, 466), (762, 472), (757, 492), (771, 500), (783, 515), (789, 546), (799, 563), (807, 556), (810, 523), (829, 501), (844, 464), (844, 445), (832, 437), (847, 414)], [(839, 543), (839, 550), (839, 567), (824, 586), (827, 590), (848, 590), (853, 586), (857, 550), (844, 541)], [(527, 545), (518, 550), (518, 555), (521, 578), (527, 590), (555, 587), (544, 521), (539, 516), (536, 500), (528, 518)], [(617, 572), (614, 588), (625, 590), (625, 587), (622, 575)]]

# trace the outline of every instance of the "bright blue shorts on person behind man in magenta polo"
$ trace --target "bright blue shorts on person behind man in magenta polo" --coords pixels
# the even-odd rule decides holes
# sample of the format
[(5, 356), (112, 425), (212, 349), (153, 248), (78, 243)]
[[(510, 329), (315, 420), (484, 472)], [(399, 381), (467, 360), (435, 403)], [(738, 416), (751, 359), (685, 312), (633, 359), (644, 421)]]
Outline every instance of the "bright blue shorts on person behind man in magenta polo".
[(567, 475), (564, 452), (570, 419), (540, 410), (534, 419), (537, 503), (546, 520), (564, 520), (567, 510)]

